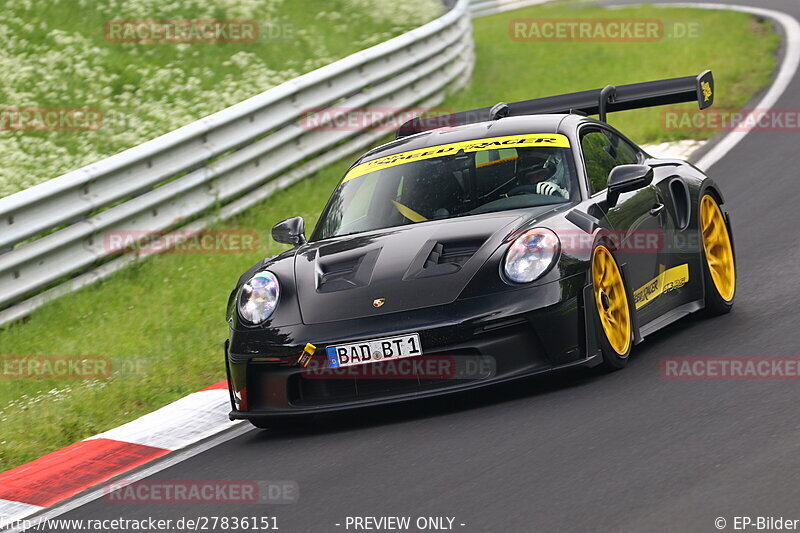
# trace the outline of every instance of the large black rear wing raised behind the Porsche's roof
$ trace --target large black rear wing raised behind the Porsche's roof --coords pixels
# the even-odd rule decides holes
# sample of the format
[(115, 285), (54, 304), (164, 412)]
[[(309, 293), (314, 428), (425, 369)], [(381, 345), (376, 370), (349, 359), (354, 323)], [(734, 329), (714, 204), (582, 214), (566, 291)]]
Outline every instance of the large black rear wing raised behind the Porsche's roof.
[(607, 85), (603, 89), (579, 93), (523, 100), (511, 104), (499, 103), (493, 107), (462, 111), (431, 118), (413, 118), (400, 126), (397, 138), (407, 137), (441, 127), (462, 126), (503, 117), (540, 115), (545, 113), (581, 113), (599, 115), (628, 109), (641, 109), (660, 105), (697, 101), (700, 109), (714, 103), (714, 76), (706, 70), (698, 76), (685, 76), (668, 80), (646, 81), (630, 85)]

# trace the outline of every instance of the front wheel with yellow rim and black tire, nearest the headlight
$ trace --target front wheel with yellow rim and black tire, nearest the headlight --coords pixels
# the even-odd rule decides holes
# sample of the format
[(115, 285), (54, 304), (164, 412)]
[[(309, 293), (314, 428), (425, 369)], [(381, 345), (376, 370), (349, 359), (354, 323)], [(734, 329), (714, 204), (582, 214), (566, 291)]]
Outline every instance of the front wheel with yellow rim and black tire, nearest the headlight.
[(592, 252), (592, 293), (603, 353), (602, 368), (620, 370), (628, 364), (633, 347), (633, 317), (622, 271), (613, 254), (603, 245)]

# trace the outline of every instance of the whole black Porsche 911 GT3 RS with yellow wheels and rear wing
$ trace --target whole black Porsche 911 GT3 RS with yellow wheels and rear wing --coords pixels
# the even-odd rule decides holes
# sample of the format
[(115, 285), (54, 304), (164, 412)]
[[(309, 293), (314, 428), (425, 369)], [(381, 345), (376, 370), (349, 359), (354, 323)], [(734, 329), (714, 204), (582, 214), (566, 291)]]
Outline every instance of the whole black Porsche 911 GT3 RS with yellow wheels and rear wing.
[(727, 312), (736, 272), (719, 186), (605, 120), (712, 100), (705, 72), (407, 123), (350, 168), (310, 239), (301, 218), (278, 223), (273, 237), (293, 247), (239, 280), (230, 417), (268, 427), (621, 368), (667, 324)]

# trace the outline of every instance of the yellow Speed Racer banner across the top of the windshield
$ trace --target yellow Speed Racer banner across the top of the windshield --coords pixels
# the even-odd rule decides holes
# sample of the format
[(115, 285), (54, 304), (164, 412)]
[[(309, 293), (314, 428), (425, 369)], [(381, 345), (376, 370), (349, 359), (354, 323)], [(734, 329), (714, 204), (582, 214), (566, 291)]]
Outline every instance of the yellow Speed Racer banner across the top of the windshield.
[(364, 174), (405, 163), (413, 163), (424, 159), (432, 159), (443, 155), (480, 152), (481, 150), (497, 150), (500, 148), (531, 148), (534, 146), (569, 148), (569, 139), (558, 133), (531, 133), (527, 135), (507, 135), (505, 137), (489, 137), (488, 139), (472, 139), (450, 144), (440, 144), (429, 148), (420, 148), (399, 154), (379, 157), (350, 169), (342, 183), (358, 178)]

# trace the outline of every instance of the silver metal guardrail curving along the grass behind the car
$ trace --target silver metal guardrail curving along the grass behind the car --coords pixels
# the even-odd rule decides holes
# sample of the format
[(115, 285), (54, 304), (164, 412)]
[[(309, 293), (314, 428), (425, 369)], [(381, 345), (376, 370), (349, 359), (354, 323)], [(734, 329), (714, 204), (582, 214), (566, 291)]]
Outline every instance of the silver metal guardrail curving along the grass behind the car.
[(108, 232), (199, 230), (386, 135), (303, 128), (308, 110), (436, 105), (473, 64), (469, 0), (458, 0), (420, 28), (0, 199), (0, 325), (135, 261), (111, 256)]

